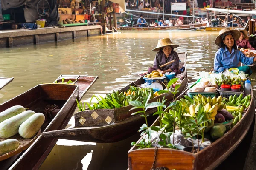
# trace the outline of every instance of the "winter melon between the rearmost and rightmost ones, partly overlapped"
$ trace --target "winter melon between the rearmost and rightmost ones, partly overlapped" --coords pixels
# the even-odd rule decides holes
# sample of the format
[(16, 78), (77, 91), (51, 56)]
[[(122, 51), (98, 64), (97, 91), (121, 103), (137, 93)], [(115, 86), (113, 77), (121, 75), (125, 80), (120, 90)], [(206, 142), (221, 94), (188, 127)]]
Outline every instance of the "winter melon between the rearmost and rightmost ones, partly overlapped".
[(4, 120), (0, 123), (0, 137), (9, 138), (19, 132), (20, 125), (35, 114), (34, 111), (24, 111), (16, 116)]

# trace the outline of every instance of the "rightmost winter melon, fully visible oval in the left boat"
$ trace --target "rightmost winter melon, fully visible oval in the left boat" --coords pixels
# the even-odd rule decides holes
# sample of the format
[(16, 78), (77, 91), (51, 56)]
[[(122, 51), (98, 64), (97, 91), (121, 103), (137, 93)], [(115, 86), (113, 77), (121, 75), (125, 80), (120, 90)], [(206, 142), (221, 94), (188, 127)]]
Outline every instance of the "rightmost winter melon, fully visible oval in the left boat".
[(23, 138), (29, 139), (32, 138), (39, 130), (44, 123), (44, 114), (35, 113), (25, 122), (20, 125), (19, 134)]

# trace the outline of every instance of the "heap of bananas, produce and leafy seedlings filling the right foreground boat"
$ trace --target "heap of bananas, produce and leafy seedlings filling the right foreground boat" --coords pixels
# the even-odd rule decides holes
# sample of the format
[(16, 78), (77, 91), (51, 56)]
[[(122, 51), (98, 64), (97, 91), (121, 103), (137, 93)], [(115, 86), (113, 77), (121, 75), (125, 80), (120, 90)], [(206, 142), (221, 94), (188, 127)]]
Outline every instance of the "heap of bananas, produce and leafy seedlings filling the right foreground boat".
[[(144, 136), (138, 144), (132, 144), (139, 148), (155, 146), (175, 149), (189, 146), (205, 148), (242, 119), (251, 99), (250, 95), (242, 99), (242, 94), (235, 99), (234, 96), (230, 99), (222, 96), (206, 98), (201, 94), (194, 96), (193, 99), (186, 95), (183, 97), (169, 106), (162, 105), (161, 107), (166, 108), (166, 111), (159, 109), (157, 111), (160, 115), (160, 126), (148, 127), (152, 132)], [(230, 103), (237, 106), (230, 106)], [(143, 126), (141, 129), (146, 128), (145, 124)], [(170, 133), (173, 134), (170, 136)], [(165, 144), (158, 142), (163, 139), (166, 140)]]

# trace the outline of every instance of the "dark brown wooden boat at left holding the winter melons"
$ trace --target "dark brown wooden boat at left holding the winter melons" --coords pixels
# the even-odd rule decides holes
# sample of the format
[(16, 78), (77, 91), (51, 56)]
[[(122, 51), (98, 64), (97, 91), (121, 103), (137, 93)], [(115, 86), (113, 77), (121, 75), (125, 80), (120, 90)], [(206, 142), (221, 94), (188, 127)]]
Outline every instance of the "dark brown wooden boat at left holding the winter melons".
[[(80, 75), (61, 75), (55, 82), (68, 82), (71, 80), (72, 84), (66, 83), (51, 83), (37, 85), (34, 88), (26, 91), (19, 96), (0, 105), (0, 111), (4, 111), (13, 105), (22, 105), (35, 112), (45, 113), (46, 106), (57, 105), (56, 109), (48, 112), (48, 124), (41, 128), (41, 132), (49, 130), (58, 130), (66, 127), (68, 120), (73, 115), (76, 109), (76, 99), (81, 100), (83, 95), (98, 77), (80, 76)], [(44, 125), (43, 125), (44, 126)], [(44, 138), (38, 136), (35, 142), (25, 151), (25, 153), (17, 154), (9, 159), (0, 161), (1, 169), (17, 170), (31, 170), (38, 169), (49, 152), (54, 147), (56, 139)]]

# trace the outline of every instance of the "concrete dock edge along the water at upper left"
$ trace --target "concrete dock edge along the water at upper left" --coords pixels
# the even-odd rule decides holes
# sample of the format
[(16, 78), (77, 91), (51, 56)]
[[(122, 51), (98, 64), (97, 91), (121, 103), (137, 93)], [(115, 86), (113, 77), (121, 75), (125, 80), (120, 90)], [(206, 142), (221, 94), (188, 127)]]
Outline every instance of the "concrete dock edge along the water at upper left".
[(92, 25), (0, 31), (0, 48), (99, 35), (101, 28), (100, 25)]

